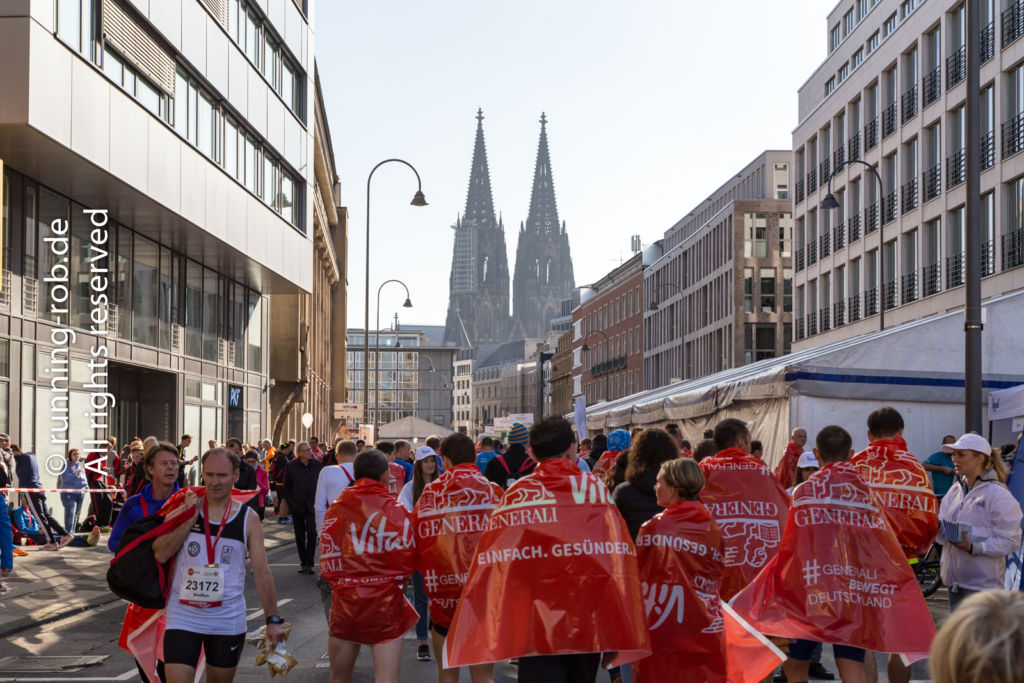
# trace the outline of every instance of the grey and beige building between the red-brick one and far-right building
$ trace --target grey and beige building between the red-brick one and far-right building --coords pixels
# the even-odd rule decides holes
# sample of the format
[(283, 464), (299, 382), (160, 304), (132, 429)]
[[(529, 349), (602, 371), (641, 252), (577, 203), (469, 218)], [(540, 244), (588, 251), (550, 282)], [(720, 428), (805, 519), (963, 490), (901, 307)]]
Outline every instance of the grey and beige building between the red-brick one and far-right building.
[(669, 228), (643, 271), (643, 388), (790, 351), (791, 153), (762, 153)]

